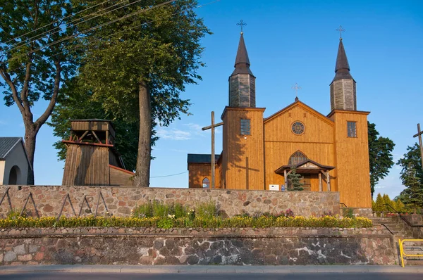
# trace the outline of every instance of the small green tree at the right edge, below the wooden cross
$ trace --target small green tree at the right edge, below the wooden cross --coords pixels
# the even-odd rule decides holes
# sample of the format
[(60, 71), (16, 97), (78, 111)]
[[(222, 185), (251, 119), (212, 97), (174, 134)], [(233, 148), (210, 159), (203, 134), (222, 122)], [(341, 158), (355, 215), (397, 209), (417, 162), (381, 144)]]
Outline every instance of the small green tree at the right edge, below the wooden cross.
[(400, 199), (407, 205), (407, 208), (412, 207), (423, 207), (423, 188), (421, 179), (416, 176), (417, 172), (410, 166), (407, 167), (407, 171), (401, 174), (405, 189), (400, 193)]

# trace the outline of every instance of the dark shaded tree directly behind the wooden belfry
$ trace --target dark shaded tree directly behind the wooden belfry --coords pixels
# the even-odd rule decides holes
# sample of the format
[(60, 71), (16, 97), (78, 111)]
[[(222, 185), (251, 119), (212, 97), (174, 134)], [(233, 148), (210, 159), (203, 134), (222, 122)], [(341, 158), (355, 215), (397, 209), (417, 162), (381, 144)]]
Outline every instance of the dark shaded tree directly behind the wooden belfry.
[[(103, 108), (104, 100), (94, 99), (92, 95), (92, 91), (87, 89), (78, 77), (74, 77), (66, 84), (66, 87), (63, 87), (57, 105), (51, 113), (51, 121), (48, 122), (48, 125), (54, 129), (54, 136), (58, 136), (59, 139), (68, 139), (71, 120), (90, 118), (112, 120), (116, 131), (114, 145), (117, 151), (121, 153), (126, 169), (135, 170), (139, 134), (137, 102), (133, 102), (135, 104), (133, 108), (128, 108), (135, 116), (135, 118), (128, 120), (115, 116), (112, 111), (106, 113)], [(153, 131), (152, 145), (156, 140), (157, 137)], [(57, 141), (54, 147), (59, 150), (57, 152), (59, 160), (64, 160), (66, 158), (66, 146), (61, 141)]]

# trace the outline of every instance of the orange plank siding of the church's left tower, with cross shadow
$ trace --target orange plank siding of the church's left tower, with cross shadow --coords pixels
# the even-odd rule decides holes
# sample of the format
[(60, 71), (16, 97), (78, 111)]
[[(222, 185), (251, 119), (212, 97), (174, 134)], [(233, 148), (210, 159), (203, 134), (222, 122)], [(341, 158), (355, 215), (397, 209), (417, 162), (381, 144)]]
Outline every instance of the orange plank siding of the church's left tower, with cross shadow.
[[(264, 189), (264, 108), (226, 107), (223, 120), (222, 187)], [(240, 120), (250, 120), (250, 135), (240, 134)]]

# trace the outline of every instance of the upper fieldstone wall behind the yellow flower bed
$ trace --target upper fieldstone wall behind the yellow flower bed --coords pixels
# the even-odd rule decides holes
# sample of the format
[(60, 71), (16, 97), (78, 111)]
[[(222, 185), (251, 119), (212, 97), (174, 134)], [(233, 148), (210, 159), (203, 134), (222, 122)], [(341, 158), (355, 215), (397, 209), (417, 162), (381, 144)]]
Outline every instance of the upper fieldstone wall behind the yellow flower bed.
[[(0, 186), (0, 196), (3, 196), (8, 186)], [(99, 199), (99, 193), (103, 199)], [(34, 198), (37, 210), (42, 216), (59, 215), (61, 206), (69, 193), (73, 208), (78, 215), (82, 205), (82, 214), (89, 214), (90, 209), (95, 212), (98, 203), (99, 215), (106, 210), (115, 216), (130, 215), (137, 205), (148, 201), (163, 201), (164, 203), (183, 203), (195, 207), (198, 203), (213, 201), (218, 205), (223, 216), (233, 216), (243, 211), (281, 212), (288, 208), (295, 215), (311, 216), (323, 215), (324, 212), (339, 213), (338, 192), (312, 191), (248, 191), (225, 189), (166, 189), (166, 188), (134, 188), (110, 186), (10, 186), (8, 191), (12, 208), (20, 210), (25, 205), (30, 193)], [(85, 203), (84, 198), (87, 199)], [(106, 208), (104, 207), (106, 205)], [(27, 203), (27, 209), (34, 207), (32, 201)], [(0, 205), (0, 216), (9, 211), (7, 197)], [(63, 215), (73, 216), (71, 205), (66, 201)]]

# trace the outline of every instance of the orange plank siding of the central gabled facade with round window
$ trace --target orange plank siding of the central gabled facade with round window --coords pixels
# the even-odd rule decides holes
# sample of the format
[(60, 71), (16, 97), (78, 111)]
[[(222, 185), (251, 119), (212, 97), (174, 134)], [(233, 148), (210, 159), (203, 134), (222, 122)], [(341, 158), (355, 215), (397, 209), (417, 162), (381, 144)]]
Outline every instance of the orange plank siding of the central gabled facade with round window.
[[(292, 132), (293, 122), (305, 125), (303, 134)], [(295, 151), (301, 151), (307, 158), (321, 165), (335, 166), (333, 122), (301, 102), (294, 103), (264, 121), (264, 170), (265, 187), (269, 184), (284, 184), (283, 175), (276, 174)], [(336, 172), (332, 170), (331, 191), (337, 191)], [(311, 190), (319, 191), (319, 177), (312, 175)], [(326, 178), (323, 190), (327, 190)]]

